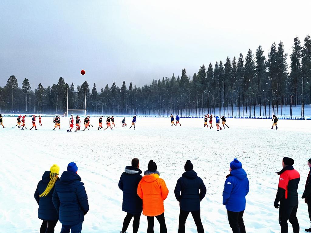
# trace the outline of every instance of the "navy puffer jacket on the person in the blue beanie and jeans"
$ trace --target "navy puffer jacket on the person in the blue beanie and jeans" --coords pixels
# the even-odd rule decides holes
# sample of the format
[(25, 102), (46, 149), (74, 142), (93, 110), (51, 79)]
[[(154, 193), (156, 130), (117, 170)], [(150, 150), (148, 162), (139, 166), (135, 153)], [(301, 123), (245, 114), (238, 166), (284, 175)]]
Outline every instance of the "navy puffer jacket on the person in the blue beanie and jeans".
[(63, 172), (55, 184), (53, 204), (59, 213), (59, 222), (63, 225), (72, 226), (84, 221), (84, 215), (89, 211), (89, 203), (78, 174)]

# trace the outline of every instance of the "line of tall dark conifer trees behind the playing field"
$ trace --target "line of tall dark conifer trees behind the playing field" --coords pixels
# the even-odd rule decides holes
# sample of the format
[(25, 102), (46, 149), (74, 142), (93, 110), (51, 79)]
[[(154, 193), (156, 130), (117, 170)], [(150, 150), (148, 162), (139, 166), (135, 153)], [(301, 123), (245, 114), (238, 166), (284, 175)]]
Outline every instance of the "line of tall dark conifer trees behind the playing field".
[[(60, 77), (57, 84), (44, 88), (41, 83), (34, 89), (28, 79), (21, 88), (14, 75), (7, 85), (0, 87), (0, 112), (63, 114), (68, 108), (84, 109), (88, 114), (168, 116), (202, 116), (205, 113), (238, 115), (278, 115), (283, 106), (311, 106), (311, 39), (303, 43), (294, 39), (287, 64), (284, 44), (272, 43), (268, 56), (259, 46), (255, 53), (248, 49), (246, 56), (227, 57), (207, 67), (203, 64), (197, 73), (187, 75), (182, 69), (177, 77), (152, 80), (149, 85), (121, 88), (107, 84), (97, 91), (94, 83), (90, 89), (87, 81), (81, 85), (67, 84)], [(269, 110), (267, 110), (267, 107)], [(268, 112), (267, 112), (268, 111)]]

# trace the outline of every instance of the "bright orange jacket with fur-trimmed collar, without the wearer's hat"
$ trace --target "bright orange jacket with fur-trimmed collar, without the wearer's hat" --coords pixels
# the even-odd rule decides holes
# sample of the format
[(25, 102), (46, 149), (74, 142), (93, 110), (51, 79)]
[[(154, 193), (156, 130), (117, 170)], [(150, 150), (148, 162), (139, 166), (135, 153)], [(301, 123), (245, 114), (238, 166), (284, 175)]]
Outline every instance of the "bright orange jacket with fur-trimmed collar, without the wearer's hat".
[(163, 201), (167, 198), (169, 190), (160, 173), (144, 172), (144, 177), (139, 182), (137, 194), (142, 199), (142, 214), (146, 216), (158, 216), (164, 213)]

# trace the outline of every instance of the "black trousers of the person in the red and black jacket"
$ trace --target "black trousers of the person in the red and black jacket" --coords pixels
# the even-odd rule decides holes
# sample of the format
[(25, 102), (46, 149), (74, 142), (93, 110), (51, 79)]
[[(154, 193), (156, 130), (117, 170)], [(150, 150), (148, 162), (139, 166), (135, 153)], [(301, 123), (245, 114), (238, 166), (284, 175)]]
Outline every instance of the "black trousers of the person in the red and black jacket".
[(281, 225), (281, 233), (288, 232), (287, 220), (289, 220), (290, 223), (292, 224), (293, 232), (299, 233), (299, 223), (296, 217), (297, 209), (298, 205), (296, 206), (280, 205), (279, 223)]

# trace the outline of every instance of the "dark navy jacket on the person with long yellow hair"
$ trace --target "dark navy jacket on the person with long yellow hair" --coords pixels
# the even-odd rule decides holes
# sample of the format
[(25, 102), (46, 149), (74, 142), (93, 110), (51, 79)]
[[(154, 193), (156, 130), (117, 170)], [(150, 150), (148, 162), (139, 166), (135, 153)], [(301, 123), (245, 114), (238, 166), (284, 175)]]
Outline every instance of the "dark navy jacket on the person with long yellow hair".
[[(53, 202), (52, 195), (54, 191), (54, 187), (50, 190), (49, 194), (45, 197), (39, 197), (40, 194), (44, 192), (48, 183), (50, 182), (50, 173), (51, 171), (45, 171), (42, 180), (39, 181), (37, 185), (37, 189), (35, 191), (35, 199), (39, 205), (38, 209), (38, 218), (44, 221), (57, 221), (58, 220), (58, 212), (56, 211)], [(56, 180), (56, 183), (58, 183)]]

